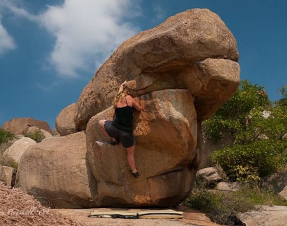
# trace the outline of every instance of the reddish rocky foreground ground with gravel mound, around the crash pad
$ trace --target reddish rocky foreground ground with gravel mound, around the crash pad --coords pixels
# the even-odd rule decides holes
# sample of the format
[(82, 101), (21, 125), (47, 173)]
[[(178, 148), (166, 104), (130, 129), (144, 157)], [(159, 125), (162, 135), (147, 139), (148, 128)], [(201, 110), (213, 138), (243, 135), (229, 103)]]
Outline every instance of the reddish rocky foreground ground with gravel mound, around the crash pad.
[(180, 220), (168, 219), (109, 219), (88, 217), (94, 209), (50, 209), (34, 196), (0, 182), (0, 225), (218, 225), (205, 214), (179, 206)]

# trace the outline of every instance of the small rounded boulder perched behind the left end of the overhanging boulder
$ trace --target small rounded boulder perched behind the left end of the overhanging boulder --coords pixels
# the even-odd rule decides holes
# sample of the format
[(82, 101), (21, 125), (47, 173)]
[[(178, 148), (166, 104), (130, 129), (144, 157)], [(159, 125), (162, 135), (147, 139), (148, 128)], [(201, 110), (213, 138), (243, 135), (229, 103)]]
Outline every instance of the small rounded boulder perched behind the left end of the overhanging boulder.
[(57, 116), (55, 128), (61, 136), (76, 132), (76, 125), (74, 122), (76, 107), (76, 103), (70, 104)]

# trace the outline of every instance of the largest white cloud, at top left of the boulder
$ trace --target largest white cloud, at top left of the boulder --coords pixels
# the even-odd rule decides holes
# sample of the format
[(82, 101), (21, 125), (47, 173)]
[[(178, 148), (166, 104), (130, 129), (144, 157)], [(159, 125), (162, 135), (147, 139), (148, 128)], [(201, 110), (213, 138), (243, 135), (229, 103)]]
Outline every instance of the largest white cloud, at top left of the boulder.
[(65, 0), (32, 15), (15, 5), (6, 6), (16, 15), (37, 21), (55, 37), (49, 62), (61, 77), (79, 77), (94, 71), (124, 40), (138, 32), (124, 18), (138, 15), (133, 0)]

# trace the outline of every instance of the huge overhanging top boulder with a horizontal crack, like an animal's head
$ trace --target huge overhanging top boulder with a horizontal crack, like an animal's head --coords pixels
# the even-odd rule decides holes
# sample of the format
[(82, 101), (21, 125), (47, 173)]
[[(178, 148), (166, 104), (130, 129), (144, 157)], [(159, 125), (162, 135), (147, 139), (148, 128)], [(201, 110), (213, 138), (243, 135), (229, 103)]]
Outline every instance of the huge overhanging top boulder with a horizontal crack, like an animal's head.
[(205, 120), (239, 85), (237, 43), (208, 9), (192, 9), (125, 41), (83, 89), (75, 113), (78, 130), (111, 106), (124, 80), (134, 96), (162, 89), (189, 89), (198, 119)]

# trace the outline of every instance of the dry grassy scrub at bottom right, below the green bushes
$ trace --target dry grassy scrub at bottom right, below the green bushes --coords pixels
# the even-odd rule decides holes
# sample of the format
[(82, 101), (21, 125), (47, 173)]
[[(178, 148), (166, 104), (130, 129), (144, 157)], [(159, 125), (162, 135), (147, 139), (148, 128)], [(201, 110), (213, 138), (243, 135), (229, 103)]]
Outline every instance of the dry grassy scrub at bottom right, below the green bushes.
[(239, 191), (234, 192), (215, 192), (197, 184), (183, 204), (207, 213), (211, 220), (218, 224), (236, 225), (234, 216), (239, 212), (260, 209), (254, 205), (287, 206), (287, 201), (281, 199), (272, 190), (249, 184), (243, 185)]

